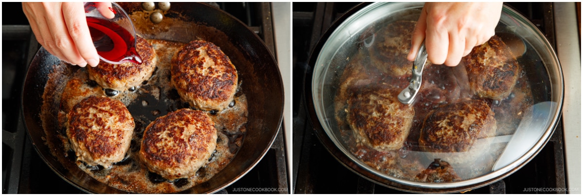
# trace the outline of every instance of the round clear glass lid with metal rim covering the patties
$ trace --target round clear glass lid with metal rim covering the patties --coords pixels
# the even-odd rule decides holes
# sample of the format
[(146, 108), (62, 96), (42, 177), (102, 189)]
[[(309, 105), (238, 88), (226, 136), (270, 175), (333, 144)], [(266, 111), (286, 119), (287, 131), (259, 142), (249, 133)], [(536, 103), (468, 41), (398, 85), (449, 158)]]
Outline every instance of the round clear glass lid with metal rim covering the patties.
[(504, 6), (496, 35), (455, 67), (426, 63), (412, 104), (397, 99), (423, 3), (372, 3), (319, 51), (312, 99), (326, 134), (360, 168), (421, 188), (510, 175), (554, 130), (563, 99), (559, 61), (542, 33)]

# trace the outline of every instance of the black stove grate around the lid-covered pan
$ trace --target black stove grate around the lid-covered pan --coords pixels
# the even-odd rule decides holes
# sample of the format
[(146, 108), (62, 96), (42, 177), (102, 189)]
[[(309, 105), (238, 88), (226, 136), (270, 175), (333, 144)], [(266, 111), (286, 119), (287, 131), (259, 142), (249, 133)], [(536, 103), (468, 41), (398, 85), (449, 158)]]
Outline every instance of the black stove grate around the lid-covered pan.
[[(314, 46), (333, 21), (358, 3), (294, 3), (293, 6), (293, 81), (305, 82), (312, 77), (308, 64)], [(554, 47), (552, 3), (507, 3), (531, 20), (545, 34)], [(308, 121), (305, 84), (293, 89), (293, 188), (294, 193), (356, 193), (394, 194), (406, 193), (380, 186), (340, 164), (322, 145)], [(540, 153), (523, 168), (489, 186), (468, 193), (504, 194), (535, 193), (526, 188), (564, 188), (565, 170), (563, 153), (563, 124), (559, 121), (553, 136)], [(531, 189), (532, 190), (532, 189)], [(565, 193), (564, 190), (548, 193)], [(542, 193), (542, 192), (538, 192)]]

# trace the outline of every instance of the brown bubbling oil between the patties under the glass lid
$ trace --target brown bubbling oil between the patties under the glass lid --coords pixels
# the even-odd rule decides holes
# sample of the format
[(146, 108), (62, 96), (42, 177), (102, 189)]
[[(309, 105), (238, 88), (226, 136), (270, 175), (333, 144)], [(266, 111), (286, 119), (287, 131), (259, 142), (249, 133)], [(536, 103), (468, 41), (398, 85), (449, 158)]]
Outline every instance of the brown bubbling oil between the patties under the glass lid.
[[(423, 72), (423, 86), (417, 99), (412, 103), (415, 110), (413, 117), (413, 125), (410, 128), (409, 135), (403, 143), (403, 146), (398, 150), (391, 151), (377, 151), (373, 148), (365, 146), (356, 141), (352, 127), (347, 122), (348, 104), (346, 102), (347, 95), (342, 94), (342, 90), (336, 92), (334, 104), (335, 121), (338, 124), (339, 137), (345, 143), (349, 151), (362, 161), (364, 164), (385, 173), (389, 176), (405, 179), (409, 181), (420, 181), (417, 175), (429, 168), (434, 162), (433, 157), (429, 158), (428, 153), (420, 148), (419, 137), (423, 126), (423, 121), (426, 119), (429, 112), (436, 110), (440, 106), (448, 103), (455, 103), (464, 98), (483, 99), (490, 109), (494, 112), (494, 118), (497, 121), (496, 136), (512, 135), (517, 129), (518, 123), (521, 121), (524, 113), (528, 112), (528, 108), (533, 105), (531, 82), (526, 75), (524, 64), (520, 59), (519, 75), (517, 84), (512, 89), (510, 96), (501, 100), (484, 99), (473, 95), (467, 86), (467, 75), (463, 75), (459, 69), (465, 70), (463, 65), (454, 68), (431, 65), (426, 66)], [(362, 74), (367, 73), (367, 74)], [(463, 79), (465, 76), (465, 80)], [(335, 85), (340, 85), (338, 88), (353, 88), (353, 86), (345, 87), (342, 85), (346, 81), (367, 81), (370, 83), (359, 84), (361, 86), (373, 86), (384, 88), (404, 89), (408, 85), (410, 78), (407, 77), (389, 77), (383, 75), (382, 71), (370, 66), (368, 61), (368, 53), (366, 50), (360, 50), (354, 56), (350, 56), (350, 61), (346, 63), (342, 78)], [(356, 86), (357, 84), (353, 84)], [(390, 87), (389, 87), (390, 86)], [(503, 152), (505, 143), (491, 143), (489, 148), (484, 150), (477, 159), (464, 165), (451, 164), (452, 170), (455, 170), (456, 175), (461, 180), (472, 179), (477, 176), (485, 175), (491, 172), (493, 165), (496, 163), (498, 157)], [(480, 152), (482, 153), (482, 152)], [(447, 156), (447, 155), (444, 155)], [(437, 158), (437, 157), (435, 157)], [(448, 161), (446, 157), (442, 161)]]

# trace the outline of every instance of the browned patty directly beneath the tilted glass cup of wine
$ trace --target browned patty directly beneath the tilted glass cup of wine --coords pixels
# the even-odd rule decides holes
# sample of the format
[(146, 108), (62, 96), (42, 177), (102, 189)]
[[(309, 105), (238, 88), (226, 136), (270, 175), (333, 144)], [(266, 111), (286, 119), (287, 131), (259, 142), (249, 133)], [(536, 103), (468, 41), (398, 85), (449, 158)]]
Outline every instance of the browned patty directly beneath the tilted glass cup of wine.
[(87, 67), (89, 79), (92, 79), (106, 89), (125, 91), (139, 86), (150, 79), (156, 68), (156, 53), (146, 39), (136, 36), (136, 50), (142, 57), (142, 64), (122, 63), (110, 64), (101, 62), (97, 67)]

